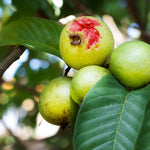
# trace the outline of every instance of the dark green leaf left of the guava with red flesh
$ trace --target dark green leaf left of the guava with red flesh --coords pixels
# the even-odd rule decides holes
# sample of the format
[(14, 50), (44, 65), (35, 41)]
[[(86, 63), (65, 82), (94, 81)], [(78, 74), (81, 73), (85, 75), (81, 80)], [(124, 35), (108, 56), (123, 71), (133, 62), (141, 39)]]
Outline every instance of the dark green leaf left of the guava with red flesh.
[(60, 57), (59, 36), (62, 28), (60, 24), (51, 20), (21, 18), (2, 29), (0, 46), (23, 45)]

